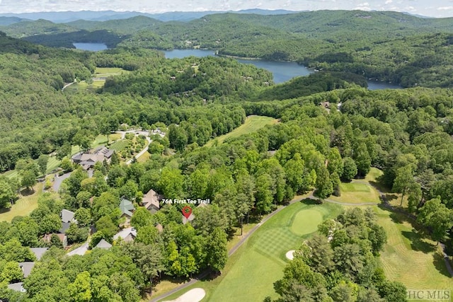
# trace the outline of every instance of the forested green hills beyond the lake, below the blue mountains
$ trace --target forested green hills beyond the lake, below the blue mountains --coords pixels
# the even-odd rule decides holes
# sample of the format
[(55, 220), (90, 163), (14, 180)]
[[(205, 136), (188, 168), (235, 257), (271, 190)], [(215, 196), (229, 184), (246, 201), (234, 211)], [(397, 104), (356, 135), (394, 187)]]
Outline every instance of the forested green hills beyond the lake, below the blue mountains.
[[(201, 47), (220, 55), (294, 61), (403, 87), (451, 87), (452, 22), (395, 12), (312, 11), (277, 16), (219, 13), (190, 21), (23, 21), (0, 30), (49, 46), (104, 42), (159, 50)], [(133, 34), (131, 34), (133, 33)], [(253, 41), (253, 42), (251, 42)]]

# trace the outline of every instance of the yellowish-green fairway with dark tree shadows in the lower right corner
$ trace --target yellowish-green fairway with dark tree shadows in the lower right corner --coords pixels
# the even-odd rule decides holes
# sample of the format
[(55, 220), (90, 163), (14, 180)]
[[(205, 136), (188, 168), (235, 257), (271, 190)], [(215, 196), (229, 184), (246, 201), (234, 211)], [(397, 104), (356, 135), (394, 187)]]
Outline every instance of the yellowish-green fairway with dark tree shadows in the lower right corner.
[[(400, 281), (407, 289), (452, 289), (439, 246), (424, 238), (401, 214), (377, 208), (379, 225), (385, 228), (387, 243), (381, 252), (386, 277)], [(427, 300), (428, 301), (428, 300)]]

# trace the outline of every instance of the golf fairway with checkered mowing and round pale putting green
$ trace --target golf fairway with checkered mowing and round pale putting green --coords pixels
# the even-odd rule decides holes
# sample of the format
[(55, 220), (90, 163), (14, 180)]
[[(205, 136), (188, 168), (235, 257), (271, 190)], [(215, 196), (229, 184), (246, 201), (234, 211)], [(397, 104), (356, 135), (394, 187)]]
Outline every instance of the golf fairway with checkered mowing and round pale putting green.
[(201, 287), (206, 296), (202, 301), (263, 301), (266, 296), (277, 298), (273, 283), (283, 276), (289, 250), (299, 245), (323, 219), (340, 213), (336, 204), (305, 204), (297, 202), (266, 221), (232, 255), (220, 277), (202, 280), (163, 301), (170, 301), (186, 291)]

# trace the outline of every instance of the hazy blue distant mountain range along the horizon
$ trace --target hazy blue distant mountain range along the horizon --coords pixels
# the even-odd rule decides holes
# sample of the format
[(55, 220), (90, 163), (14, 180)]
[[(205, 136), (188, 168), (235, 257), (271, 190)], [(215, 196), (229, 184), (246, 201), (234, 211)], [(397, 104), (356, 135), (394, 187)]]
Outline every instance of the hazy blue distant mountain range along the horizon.
[(159, 21), (192, 21), (214, 13), (256, 13), (258, 15), (284, 15), (298, 13), (283, 9), (270, 11), (265, 9), (247, 9), (243, 11), (172, 11), (167, 13), (140, 13), (138, 11), (47, 11), (40, 13), (0, 13), (0, 25), (10, 25), (16, 22), (44, 19), (54, 23), (68, 23), (77, 20), (109, 21), (127, 19), (135, 16), (147, 16)]

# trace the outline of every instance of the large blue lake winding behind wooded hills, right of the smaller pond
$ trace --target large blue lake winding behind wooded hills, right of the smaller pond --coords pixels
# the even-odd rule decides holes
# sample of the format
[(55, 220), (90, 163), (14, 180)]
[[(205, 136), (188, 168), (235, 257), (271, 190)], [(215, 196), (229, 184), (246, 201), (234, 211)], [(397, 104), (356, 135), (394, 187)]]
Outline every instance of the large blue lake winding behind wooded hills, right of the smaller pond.
[[(167, 50), (164, 51), (165, 57), (168, 59), (183, 58), (183, 57), (207, 57), (215, 56), (214, 50)], [(263, 61), (263, 60), (249, 60), (249, 59), (237, 59), (239, 62), (244, 64), (253, 64), (259, 68), (266, 69), (273, 73), (274, 83), (283, 83), (289, 81), (296, 76), (308, 76), (312, 74), (314, 70), (308, 69), (303, 65), (299, 65), (296, 62), (275, 62), (275, 61)], [(379, 81), (368, 81), (369, 90), (378, 89), (401, 89), (401, 86), (379, 82)]]

